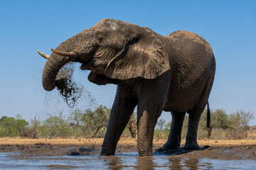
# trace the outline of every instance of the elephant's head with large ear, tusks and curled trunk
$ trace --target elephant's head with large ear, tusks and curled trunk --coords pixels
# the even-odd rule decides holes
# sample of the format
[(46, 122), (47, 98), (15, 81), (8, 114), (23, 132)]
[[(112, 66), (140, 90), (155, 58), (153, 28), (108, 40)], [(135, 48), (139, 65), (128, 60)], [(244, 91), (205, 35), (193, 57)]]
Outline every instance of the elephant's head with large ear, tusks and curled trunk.
[(48, 59), (43, 87), (53, 90), (56, 75), (68, 62), (80, 62), (81, 69), (90, 69), (88, 79), (96, 84), (109, 82), (104, 79), (154, 79), (170, 69), (166, 41), (149, 28), (103, 19), (62, 42), (50, 56), (39, 52)]

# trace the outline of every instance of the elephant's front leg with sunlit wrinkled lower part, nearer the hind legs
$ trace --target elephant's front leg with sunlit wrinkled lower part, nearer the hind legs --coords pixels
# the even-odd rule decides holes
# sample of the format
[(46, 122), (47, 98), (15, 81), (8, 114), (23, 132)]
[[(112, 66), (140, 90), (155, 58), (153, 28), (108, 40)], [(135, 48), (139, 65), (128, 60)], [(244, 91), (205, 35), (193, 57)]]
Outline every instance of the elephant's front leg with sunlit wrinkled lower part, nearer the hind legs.
[(139, 156), (152, 155), (154, 128), (164, 108), (168, 88), (168, 81), (152, 80), (143, 86), (139, 95), (137, 120)]

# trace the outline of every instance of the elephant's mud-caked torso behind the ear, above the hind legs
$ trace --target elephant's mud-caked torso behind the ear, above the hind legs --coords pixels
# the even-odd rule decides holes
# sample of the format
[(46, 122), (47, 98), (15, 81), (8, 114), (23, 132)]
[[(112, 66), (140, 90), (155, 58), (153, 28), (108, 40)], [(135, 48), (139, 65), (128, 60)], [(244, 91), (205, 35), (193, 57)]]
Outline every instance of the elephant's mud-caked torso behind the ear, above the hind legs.
[(171, 40), (174, 75), (164, 106), (165, 111), (188, 111), (200, 101), (208, 81), (213, 81), (215, 58), (206, 40), (196, 33), (178, 30)]

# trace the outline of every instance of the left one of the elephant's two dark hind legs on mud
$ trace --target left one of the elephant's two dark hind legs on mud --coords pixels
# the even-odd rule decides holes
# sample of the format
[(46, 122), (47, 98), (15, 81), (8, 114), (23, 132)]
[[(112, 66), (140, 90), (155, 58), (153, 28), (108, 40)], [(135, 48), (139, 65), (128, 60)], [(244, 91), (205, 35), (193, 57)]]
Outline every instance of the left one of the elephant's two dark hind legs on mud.
[(159, 151), (181, 147), (181, 130), (186, 112), (171, 111), (171, 129), (167, 142)]

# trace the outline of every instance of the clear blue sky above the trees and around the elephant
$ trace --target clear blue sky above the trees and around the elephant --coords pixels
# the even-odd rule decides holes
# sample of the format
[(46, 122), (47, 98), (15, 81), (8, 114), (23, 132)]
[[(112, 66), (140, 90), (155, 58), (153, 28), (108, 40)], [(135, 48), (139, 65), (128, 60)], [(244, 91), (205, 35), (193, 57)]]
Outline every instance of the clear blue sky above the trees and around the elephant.
[[(256, 1), (0, 0), (0, 116), (20, 114), (30, 120), (34, 115), (43, 119), (46, 113), (73, 111), (56, 90), (44, 91), (41, 74), (46, 60), (36, 50), (50, 55), (50, 48), (102, 18), (146, 26), (161, 35), (175, 30), (201, 35), (213, 47), (217, 62), (210, 108), (256, 114)], [(88, 73), (78, 65), (75, 80), (98, 104), (110, 108), (116, 86), (92, 84)], [(90, 106), (86, 98), (77, 107)], [(161, 118), (169, 122), (170, 113)]]

